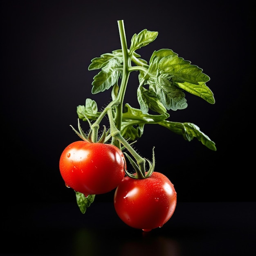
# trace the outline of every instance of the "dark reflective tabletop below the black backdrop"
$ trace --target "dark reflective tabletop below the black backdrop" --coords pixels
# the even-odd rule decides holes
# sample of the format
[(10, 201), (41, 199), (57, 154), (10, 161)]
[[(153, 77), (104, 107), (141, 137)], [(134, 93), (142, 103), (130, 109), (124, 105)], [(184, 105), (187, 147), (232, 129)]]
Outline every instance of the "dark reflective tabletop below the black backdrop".
[[(1, 218), (0, 255), (255, 256), (256, 203), (178, 203), (150, 232), (133, 229), (111, 203), (17, 205)], [(6, 218), (8, 217), (8, 218)]]

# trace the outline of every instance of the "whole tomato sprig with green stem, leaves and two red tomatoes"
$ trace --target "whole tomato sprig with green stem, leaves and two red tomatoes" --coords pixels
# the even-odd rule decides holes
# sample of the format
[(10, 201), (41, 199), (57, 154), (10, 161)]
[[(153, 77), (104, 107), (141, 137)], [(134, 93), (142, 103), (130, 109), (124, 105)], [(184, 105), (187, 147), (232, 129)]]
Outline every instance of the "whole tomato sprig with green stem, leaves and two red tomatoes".
[[(179, 111), (188, 106), (185, 93), (210, 104), (214, 104), (215, 99), (206, 85), (209, 76), (173, 50), (154, 51), (149, 61), (141, 58), (137, 51), (152, 43), (158, 36), (157, 31), (144, 29), (134, 34), (128, 48), (124, 20), (117, 23), (121, 49), (93, 58), (88, 66), (90, 71), (99, 70), (93, 77), (92, 94), (111, 88), (111, 100), (100, 111), (91, 97), (85, 99), (85, 105), (77, 106), (78, 131), (71, 127), (82, 142), (75, 142), (63, 151), (60, 171), (65, 183), (76, 191), (76, 201), (82, 213), (96, 194), (117, 187), (114, 204), (118, 216), (131, 227), (148, 231), (161, 227), (171, 218), (176, 206), (176, 192), (165, 175), (154, 172), (154, 148), (152, 160), (146, 159), (137, 153), (136, 141), (147, 124), (154, 124), (182, 135), (187, 141), (195, 137), (215, 151), (215, 143), (198, 126), (169, 120), (170, 110)], [(139, 108), (124, 101), (131, 72), (138, 74)], [(104, 117), (108, 119), (109, 127), (103, 126), (100, 131)], [(89, 124), (88, 133), (82, 130), (81, 120)], [(151, 138), (163, 139), (157, 131)], [(132, 170), (126, 169), (125, 159)]]

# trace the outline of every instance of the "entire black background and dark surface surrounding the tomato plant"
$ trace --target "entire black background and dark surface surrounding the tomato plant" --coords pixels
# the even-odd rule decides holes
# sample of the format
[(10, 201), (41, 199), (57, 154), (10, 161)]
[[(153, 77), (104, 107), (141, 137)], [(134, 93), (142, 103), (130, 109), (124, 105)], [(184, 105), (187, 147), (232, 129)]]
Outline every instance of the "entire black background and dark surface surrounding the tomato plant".
[[(255, 9), (249, 1), (0, 0), (1, 255), (255, 255)], [(160, 126), (137, 141), (177, 191), (172, 218), (151, 232), (115, 213), (113, 193), (97, 195), (85, 215), (58, 169), (62, 150), (79, 139), (76, 106), (99, 108), (110, 91), (91, 94), (88, 65), (128, 47), (142, 29), (158, 31), (137, 51), (149, 60), (169, 48), (210, 76), (216, 103), (186, 94), (188, 108), (171, 121), (192, 122), (216, 142), (188, 142)], [(137, 107), (136, 74), (126, 102)], [(88, 126), (82, 124), (83, 129)], [(252, 202), (253, 201), (253, 202)], [(6, 254), (4, 254), (6, 253)]]

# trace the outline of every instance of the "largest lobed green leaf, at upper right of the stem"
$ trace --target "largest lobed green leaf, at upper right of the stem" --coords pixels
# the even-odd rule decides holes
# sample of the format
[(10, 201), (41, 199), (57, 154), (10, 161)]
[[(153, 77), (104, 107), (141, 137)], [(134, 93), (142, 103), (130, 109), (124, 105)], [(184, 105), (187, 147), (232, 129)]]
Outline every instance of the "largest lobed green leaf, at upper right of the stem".
[[(156, 86), (155, 92), (167, 109), (173, 109), (171, 102), (173, 95), (169, 93), (174, 90), (174, 87), (171, 85), (201, 97), (211, 104), (215, 103), (213, 93), (205, 84), (210, 80), (209, 76), (202, 73), (201, 68), (190, 63), (190, 61), (184, 61), (183, 58), (178, 57), (171, 49), (153, 52), (148, 74), (145, 75), (144, 79), (148, 80), (149, 84)], [(177, 98), (176, 93), (175, 97)], [(178, 98), (179, 100), (182, 99), (181, 94)]]

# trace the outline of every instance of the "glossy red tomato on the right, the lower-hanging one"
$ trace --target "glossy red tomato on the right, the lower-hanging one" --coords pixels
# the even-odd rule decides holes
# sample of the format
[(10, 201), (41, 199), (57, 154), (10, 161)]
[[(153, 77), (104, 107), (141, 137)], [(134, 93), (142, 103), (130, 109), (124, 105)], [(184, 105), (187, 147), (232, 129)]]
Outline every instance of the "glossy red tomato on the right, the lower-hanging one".
[(130, 227), (144, 231), (162, 227), (173, 215), (176, 202), (173, 184), (157, 172), (141, 180), (124, 177), (114, 195), (119, 218)]

